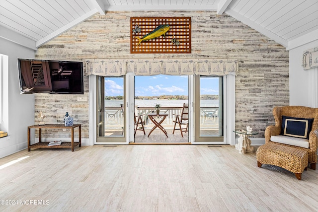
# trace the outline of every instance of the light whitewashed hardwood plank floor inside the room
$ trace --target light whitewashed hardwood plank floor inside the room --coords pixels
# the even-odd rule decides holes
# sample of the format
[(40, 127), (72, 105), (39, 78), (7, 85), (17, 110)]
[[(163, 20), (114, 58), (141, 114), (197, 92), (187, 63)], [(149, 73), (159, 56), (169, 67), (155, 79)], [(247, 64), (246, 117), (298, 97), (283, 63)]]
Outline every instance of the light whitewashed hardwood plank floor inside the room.
[(18, 201), (1, 212), (307, 212), (318, 211), (317, 197), (318, 170), (300, 181), (230, 145), (94, 145), (0, 159), (0, 200)]

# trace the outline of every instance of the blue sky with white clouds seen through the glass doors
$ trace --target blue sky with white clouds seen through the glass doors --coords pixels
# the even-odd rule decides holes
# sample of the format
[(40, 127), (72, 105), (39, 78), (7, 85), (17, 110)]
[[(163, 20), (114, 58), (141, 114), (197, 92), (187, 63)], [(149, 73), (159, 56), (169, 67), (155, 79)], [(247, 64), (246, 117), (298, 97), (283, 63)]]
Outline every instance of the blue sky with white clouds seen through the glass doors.
[[(123, 96), (123, 78), (105, 77), (105, 96)], [(218, 94), (218, 77), (201, 77), (200, 94)], [(135, 76), (135, 96), (188, 95), (188, 76)]]

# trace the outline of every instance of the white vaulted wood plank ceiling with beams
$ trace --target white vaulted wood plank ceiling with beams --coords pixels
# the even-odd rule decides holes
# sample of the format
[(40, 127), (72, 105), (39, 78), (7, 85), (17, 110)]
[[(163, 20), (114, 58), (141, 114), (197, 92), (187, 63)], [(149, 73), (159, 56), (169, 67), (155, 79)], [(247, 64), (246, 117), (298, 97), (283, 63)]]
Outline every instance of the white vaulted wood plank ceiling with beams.
[(225, 13), (287, 50), (318, 39), (317, 0), (1, 0), (0, 37), (36, 49), (97, 12), (129, 10)]

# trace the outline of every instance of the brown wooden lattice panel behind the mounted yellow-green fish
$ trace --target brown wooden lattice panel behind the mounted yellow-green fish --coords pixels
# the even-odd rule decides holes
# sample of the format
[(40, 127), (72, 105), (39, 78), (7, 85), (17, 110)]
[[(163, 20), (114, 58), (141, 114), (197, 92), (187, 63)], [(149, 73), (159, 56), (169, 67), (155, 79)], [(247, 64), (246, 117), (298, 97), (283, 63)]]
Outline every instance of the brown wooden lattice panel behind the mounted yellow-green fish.
[[(170, 29), (163, 35), (142, 41), (139, 38), (155, 30), (159, 25), (169, 24)], [(136, 26), (140, 32), (134, 32)], [(191, 53), (191, 18), (190, 17), (131, 17), (130, 18), (130, 53)], [(173, 39), (174, 38), (174, 39)], [(176, 45), (176, 41), (179, 45)], [(173, 43), (174, 42), (174, 43)], [(137, 46), (138, 45), (138, 46)]]

